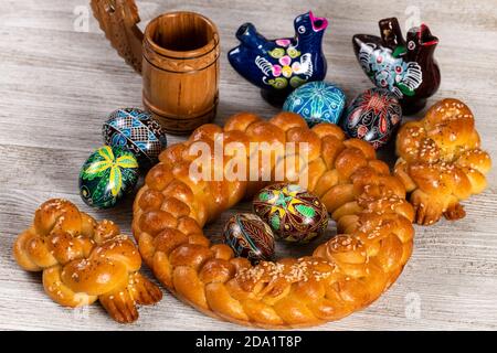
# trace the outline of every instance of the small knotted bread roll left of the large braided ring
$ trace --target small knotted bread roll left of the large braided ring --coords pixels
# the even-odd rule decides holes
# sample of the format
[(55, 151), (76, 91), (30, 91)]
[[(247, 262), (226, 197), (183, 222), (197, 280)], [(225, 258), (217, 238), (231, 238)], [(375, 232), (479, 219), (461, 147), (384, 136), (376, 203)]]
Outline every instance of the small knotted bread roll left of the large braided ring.
[(137, 304), (152, 304), (161, 290), (141, 276), (135, 244), (109, 221), (97, 223), (65, 200), (50, 200), (34, 214), (32, 226), (13, 246), (18, 264), (43, 271), (43, 287), (65, 307), (88, 306), (97, 299), (114, 320), (138, 319)]

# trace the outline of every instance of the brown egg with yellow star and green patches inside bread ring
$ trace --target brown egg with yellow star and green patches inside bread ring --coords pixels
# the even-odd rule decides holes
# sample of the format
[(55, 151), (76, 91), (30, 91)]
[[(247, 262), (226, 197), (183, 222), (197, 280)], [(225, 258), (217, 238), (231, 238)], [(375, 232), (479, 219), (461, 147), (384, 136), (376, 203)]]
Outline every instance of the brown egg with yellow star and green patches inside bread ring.
[(279, 183), (262, 189), (253, 206), (275, 236), (287, 242), (308, 243), (328, 226), (328, 211), (322, 202), (296, 184)]

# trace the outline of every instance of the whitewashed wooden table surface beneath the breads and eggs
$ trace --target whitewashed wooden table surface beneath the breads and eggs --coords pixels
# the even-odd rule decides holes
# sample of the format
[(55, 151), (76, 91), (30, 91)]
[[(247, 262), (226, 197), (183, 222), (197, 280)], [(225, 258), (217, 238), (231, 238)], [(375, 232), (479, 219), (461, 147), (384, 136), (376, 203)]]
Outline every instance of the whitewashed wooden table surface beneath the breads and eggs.
[[(293, 19), (313, 9), (327, 17), (327, 79), (348, 98), (371, 86), (352, 52), (355, 33), (378, 34), (378, 20), (395, 15), (430, 24), (440, 38), (435, 56), (443, 97), (466, 101), (476, 116), (483, 146), (497, 157), (497, 1), (137, 1), (141, 28), (161, 12), (188, 9), (211, 18), (221, 31), (221, 101), (216, 122), (240, 110), (269, 117), (277, 110), (243, 81), (225, 58), (243, 22), (268, 38), (293, 35)], [(97, 212), (78, 196), (77, 175), (102, 145), (102, 124), (119, 107), (141, 105), (141, 78), (125, 65), (83, 0), (0, 0), (0, 329), (4, 330), (239, 330), (208, 318), (165, 292), (140, 310), (131, 325), (115, 323), (99, 304), (64, 309), (43, 292), (39, 274), (12, 258), (15, 236), (32, 222), (39, 204), (65, 197), (95, 217), (116, 221), (130, 234), (131, 202)], [(417, 19), (417, 21), (419, 21)], [(409, 23), (411, 23), (409, 22)], [(181, 140), (169, 137), (170, 142)], [(497, 183), (465, 201), (467, 216), (416, 226), (414, 254), (396, 284), (377, 302), (317, 330), (497, 329)], [(237, 210), (248, 210), (240, 205)], [(220, 235), (228, 214), (208, 233)], [(302, 252), (310, 249), (302, 249)], [(295, 253), (295, 250), (294, 250)], [(296, 254), (299, 255), (299, 254)]]

